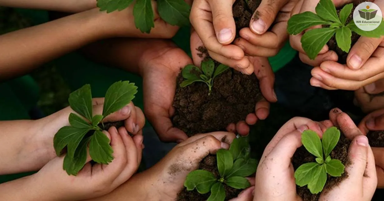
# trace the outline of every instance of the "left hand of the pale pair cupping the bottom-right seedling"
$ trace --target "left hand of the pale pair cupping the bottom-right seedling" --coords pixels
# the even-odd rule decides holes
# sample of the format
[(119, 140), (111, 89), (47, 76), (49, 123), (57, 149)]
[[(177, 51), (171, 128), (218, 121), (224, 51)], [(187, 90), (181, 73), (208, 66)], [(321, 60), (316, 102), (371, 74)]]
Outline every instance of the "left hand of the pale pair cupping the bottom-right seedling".
[(329, 120), (314, 122), (303, 117), (294, 117), (284, 124), (266, 146), (257, 167), (254, 200), (301, 200), (296, 194), (291, 163), (296, 149), (302, 145), (301, 133), (311, 129), (322, 135), (331, 126)]

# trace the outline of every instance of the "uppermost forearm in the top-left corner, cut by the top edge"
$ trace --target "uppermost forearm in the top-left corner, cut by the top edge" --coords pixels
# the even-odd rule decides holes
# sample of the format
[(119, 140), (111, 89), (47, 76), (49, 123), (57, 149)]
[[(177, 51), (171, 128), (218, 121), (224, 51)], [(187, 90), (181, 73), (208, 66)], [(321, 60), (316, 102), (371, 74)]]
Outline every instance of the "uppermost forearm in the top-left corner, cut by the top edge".
[(96, 0), (0, 0), (0, 5), (4, 7), (77, 13), (96, 8)]

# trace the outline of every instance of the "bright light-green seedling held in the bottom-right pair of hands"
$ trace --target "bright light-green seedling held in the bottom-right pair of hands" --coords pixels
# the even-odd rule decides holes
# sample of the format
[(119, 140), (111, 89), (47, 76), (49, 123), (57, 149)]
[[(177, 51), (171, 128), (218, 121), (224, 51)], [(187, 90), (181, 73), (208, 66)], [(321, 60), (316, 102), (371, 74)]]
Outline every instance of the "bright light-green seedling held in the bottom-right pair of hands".
[(317, 194), (324, 188), (327, 173), (334, 177), (344, 173), (343, 163), (329, 156), (339, 142), (339, 138), (340, 131), (336, 127), (327, 129), (321, 141), (319, 135), (312, 130), (306, 130), (301, 134), (304, 147), (317, 158), (316, 162), (305, 163), (296, 169), (296, 185), (300, 187), (308, 185), (311, 193)]

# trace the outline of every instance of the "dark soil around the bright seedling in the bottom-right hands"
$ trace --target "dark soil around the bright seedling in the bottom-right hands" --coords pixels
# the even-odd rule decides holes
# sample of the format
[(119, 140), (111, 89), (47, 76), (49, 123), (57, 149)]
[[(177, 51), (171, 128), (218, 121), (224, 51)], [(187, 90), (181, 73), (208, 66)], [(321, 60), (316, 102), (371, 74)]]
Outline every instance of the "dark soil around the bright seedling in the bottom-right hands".
[[(344, 137), (341, 133), (339, 143), (331, 152), (332, 159), (340, 160), (345, 166), (349, 165), (350, 161), (348, 158), (348, 149), (351, 141)], [(295, 155), (292, 158), (293, 168), (295, 170), (302, 164), (308, 162), (314, 162), (315, 158), (311, 153), (309, 153), (304, 146), (301, 146), (296, 150)], [(332, 189), (334, 186), (337, 186), (341, 181), (348, 177), (348, 173), (344, 172), (340, 177), (332, 177), (327, 175), (327, 182), (325, 183), (324, 189), (322, 192), (327, 192)], [(297, 194), (303, 199), (303, 201), (317, 201), (319, 200), (319, 194), (311, 194), (307, 186), (296, 186)]]

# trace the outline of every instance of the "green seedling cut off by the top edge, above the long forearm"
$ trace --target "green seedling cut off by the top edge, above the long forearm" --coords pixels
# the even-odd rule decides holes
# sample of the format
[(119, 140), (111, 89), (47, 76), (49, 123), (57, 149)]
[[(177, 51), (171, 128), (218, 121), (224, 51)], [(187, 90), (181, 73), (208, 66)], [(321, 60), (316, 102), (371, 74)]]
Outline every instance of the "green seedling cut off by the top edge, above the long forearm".
[[(97, 0), (100, 11), (107, 13), (122, 11), (134, 0)], [(184, 0), (156, 0), (160, 17), (172, 26), (189, 25), (190, 6)], [(135, 25), (143, 33), (150, 33), (155, 27), (151, 0), (136, 0), (133, 7)]]

